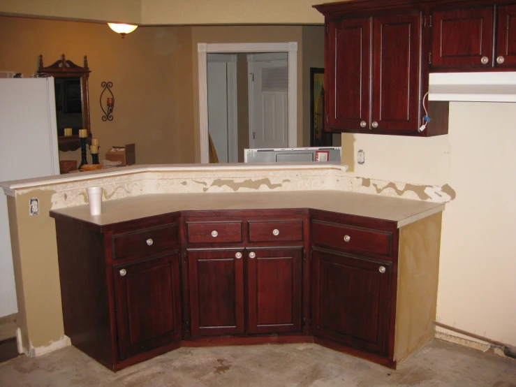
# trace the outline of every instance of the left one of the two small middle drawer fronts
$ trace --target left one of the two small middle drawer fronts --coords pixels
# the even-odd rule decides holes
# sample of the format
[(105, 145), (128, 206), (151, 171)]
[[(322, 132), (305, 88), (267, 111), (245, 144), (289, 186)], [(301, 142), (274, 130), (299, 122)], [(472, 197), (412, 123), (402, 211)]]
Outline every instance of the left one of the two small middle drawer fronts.
[(241, 221), (186, 222), (189, 243), (242, 242)]

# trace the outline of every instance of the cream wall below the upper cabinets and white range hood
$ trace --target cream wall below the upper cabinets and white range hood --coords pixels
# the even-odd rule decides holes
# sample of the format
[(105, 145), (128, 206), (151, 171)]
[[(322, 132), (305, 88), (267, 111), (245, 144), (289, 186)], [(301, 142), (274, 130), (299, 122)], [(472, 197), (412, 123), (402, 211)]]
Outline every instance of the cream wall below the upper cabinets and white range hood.
[[(516, 344), (515, 103), (450, 103), (448, 136), (343, 134), (351, 175), (441, 185), (457, 196), (443, 213), (437, 320)], [(356, 163), (359, 149), (365, 163)], [(453, 333), (452, 333), (453, 335)]]

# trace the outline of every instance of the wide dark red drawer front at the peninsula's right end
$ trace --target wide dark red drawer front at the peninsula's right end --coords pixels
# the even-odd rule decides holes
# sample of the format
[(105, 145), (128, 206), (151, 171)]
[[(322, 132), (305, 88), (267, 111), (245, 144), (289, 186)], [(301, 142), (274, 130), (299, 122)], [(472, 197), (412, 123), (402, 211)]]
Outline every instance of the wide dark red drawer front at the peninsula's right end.
[(364, 251), (382, 256), (392, 254), (392, 233), (329, 223), (312, 221), (312, 242), (326, 244), (340, 249)]

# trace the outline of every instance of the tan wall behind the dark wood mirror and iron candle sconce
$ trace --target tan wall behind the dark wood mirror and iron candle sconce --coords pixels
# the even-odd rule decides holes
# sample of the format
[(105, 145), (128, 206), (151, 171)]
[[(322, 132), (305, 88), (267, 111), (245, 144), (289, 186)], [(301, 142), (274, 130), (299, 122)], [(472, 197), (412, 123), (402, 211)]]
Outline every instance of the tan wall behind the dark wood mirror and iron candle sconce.
[[(29, 77), (39, 54), (46, 66), (61, 54), (82, 66), (87, 55), (91, 132), (100, 141), (100, 159), (112, 145), (135, 143), (137, 163), (179, 163), (192, 129), (191, 117), (186, 119), (191, 108), (183, 109), (192, 103), (189, 31), (179, 32), (187, 28), (140, 27), (122, 39), (106, 24), (0, 16), (0, 70)], [(113, 82), (112, 122), (101, 119), (103, 81)], [(182, 132), (188, 132), (187, 140)], [(80, 153), (60, 157), (80, 159)]]

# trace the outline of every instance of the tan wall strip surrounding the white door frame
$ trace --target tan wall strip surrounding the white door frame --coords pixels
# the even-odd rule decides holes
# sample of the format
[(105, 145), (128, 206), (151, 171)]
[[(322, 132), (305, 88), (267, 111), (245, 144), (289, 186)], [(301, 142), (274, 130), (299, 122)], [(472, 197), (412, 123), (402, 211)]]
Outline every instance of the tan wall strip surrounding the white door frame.
[[(196, 161), (200, 161), (198, 43), (286, 43), (297, 42), (297, 100), (302, 101), (302, 34), (300, 26), (201, 26), (192, 29), (193, 106)], [(302, 103), (297, 103), (297, 141), (303, 138)]]

